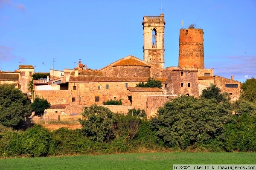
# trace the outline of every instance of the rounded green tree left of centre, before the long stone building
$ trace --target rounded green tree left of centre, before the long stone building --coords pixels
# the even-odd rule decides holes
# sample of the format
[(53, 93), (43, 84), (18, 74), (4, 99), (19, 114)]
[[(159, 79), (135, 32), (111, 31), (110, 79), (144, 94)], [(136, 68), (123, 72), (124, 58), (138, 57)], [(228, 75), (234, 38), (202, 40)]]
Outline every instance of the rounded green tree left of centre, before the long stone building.
[(114, 137), (113, 127), (116, 124), (116, 117), (113, 112), (96, 104), (84, 107), (82, 115), (85, 119), (80, 119), (82, 132), (93, 141), (107, 141)]

